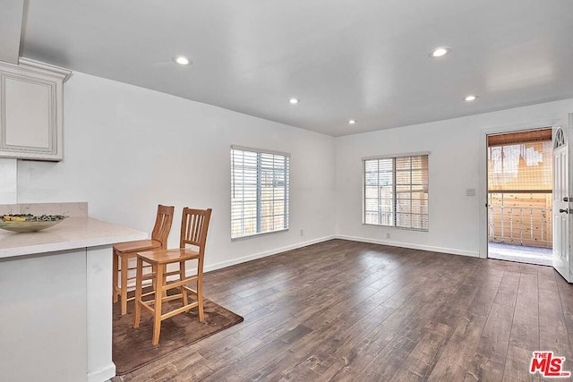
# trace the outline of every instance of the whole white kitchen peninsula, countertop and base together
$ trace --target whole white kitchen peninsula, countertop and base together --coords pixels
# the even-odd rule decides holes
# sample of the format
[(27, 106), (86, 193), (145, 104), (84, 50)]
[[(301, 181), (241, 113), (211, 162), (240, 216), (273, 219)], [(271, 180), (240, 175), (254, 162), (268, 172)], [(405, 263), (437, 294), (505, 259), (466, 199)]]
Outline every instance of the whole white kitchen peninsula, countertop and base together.
[(1, 379), (114, 377), (112, 246), (148, 237), (87, 216), (35, 233), (0, 230)]

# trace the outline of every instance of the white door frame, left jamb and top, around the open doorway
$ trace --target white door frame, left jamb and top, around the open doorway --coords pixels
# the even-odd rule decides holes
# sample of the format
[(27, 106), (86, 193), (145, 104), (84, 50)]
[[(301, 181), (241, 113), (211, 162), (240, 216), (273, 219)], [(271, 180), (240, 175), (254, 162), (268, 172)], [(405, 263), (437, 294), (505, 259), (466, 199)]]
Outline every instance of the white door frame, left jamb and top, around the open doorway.
[(563, 123), (560, 118), (535, 121), (532, 123), (517, 123), (510, 125), (500, 125), (495, 127), (483, 127), (480, 129), (479, 145), (479, 186), (478, 186), (478, 208), (479, 208), (479, 257), (487, 259), (487, 136), (492, 134), (501, 134), (504, 132), (523, 132), (526, 130), (546, 129)]

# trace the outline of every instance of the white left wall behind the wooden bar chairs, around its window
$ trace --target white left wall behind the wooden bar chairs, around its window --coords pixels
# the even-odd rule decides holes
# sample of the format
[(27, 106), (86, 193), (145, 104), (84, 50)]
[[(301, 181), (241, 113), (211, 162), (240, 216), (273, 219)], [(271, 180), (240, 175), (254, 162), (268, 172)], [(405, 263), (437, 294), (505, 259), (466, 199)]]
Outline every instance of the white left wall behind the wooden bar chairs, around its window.
[[(192, 84), (190, 84), (192, 86)], [(290, 152), (290, 230), (231, 242), (230, 146)], [(334, 139), (75, 72), (64, 85), (64, 161), (18, 161), (18, 202), (88, 201), (90, 216), (150, 232), (158, 203), (213, 208), (206, 267), (334, 233)], [(299, 231), (304, 229), (304, 236)]]

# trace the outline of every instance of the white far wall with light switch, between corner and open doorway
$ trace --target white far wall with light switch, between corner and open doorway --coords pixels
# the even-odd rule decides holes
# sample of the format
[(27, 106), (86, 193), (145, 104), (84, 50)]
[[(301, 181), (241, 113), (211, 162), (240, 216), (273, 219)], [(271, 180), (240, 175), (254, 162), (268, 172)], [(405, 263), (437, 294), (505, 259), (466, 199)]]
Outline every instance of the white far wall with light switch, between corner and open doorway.
[[(338, 138), (336, 233), (367, 242), (478, 256), (479, 233), (485, 226), (480, 220), (486, 192), (486, 174), (480, 168), (486, 160), (485, 132), (540, 127), (564, 121), (570, 112), (573, 99)], [(431, 153), (429, 232), (362, 225), (362, 158), (423, 151)], [(475, 197), (466, 196), (469, 188), (477, 189)]]

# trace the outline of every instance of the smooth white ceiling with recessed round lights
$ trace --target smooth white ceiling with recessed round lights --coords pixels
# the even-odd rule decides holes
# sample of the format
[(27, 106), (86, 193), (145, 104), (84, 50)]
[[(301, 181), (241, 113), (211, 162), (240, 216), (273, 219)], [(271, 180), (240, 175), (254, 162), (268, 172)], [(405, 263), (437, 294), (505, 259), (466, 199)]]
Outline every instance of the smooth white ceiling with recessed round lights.
[(26, 3), (21, 56), (332, 136), (573, 97), (572, 0)]

